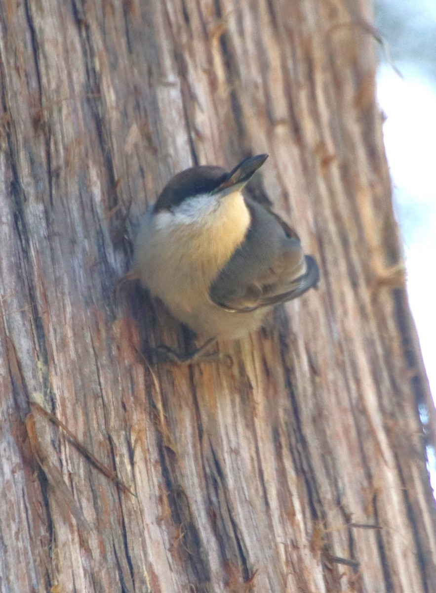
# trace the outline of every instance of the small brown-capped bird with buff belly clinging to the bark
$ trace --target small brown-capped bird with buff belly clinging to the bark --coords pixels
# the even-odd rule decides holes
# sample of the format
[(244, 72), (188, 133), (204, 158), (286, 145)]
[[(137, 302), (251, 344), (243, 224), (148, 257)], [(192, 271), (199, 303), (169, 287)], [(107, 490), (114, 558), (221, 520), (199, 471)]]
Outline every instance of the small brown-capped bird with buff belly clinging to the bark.
[(166, 184), (143, 218), (133, 272), (153, 297), (206, 340), (187, 355), (164, 347), (161, 361), (192, 363), (216, 339), (257, 329), (274, 305), (316, 286), (315, 259), (280, 216), (241, 190), (268, 155), (227, 173), (192, 167)]

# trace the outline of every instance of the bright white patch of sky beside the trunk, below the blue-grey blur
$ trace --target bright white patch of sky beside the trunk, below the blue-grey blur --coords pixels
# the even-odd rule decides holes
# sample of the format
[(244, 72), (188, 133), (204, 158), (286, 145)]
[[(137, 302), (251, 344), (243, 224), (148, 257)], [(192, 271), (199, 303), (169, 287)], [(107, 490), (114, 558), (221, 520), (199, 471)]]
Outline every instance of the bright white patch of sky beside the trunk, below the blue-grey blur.
[(413, 66), (380, 69), (384, 145), (402, 228), (408, 293), (427, 375), (436, 394), (436, 84)]

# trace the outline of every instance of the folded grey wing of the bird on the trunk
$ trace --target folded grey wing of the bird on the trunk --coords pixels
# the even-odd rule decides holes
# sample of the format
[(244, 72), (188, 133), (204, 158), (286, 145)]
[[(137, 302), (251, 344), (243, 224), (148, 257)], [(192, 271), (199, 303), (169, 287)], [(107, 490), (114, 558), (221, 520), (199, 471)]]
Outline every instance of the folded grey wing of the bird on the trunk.
[(210, 288), (217, 305), (238, 313), (300, 297), (319, 280), (318, 266), (304, 256), (298, 235), (257, 202), (245, 202), (251, 213), (245, 240)]

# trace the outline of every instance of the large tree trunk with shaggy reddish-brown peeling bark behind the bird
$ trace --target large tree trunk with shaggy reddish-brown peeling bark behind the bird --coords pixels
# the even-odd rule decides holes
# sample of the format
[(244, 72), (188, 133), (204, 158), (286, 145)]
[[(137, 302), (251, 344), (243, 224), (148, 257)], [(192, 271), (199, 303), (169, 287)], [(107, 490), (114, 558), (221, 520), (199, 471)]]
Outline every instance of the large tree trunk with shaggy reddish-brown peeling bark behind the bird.
[[(344, 0), (0, 2), (2, 592), (434, 589), (436, 423), (387, 282), (370, 21)], [(177, 171), (263, 152), (251, 192), (319, 291), (220, 343), (232, 366), (150, 369), (137, 351), (186, 336), (114, 290), (139, 215)]]

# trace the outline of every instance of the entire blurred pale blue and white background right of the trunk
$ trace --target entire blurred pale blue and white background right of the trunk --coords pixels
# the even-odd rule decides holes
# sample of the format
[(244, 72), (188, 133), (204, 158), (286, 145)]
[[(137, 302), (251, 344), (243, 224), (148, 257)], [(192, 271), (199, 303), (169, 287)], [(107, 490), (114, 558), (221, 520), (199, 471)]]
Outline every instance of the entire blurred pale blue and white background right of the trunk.
[[(376, 0), (376, 26), (400, 77), (380, 51), (384, 145), (403, 234), (409, 302), (436, 396), (436, 1)], [(424, 412), (423, 412), (424, 413)], [(428, 449), (436, 491), (436, 456)]]

